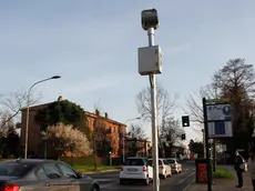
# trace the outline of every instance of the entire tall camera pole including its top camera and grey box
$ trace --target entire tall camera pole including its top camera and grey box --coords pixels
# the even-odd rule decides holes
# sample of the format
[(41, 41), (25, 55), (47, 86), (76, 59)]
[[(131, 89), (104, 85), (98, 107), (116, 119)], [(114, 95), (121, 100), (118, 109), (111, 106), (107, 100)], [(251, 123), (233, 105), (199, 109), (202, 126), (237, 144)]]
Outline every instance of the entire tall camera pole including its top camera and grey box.
[(142, 11), (142, 28), (147, 31), (149, 47), (139, 48), (139, 72), (141, 76), (149, 76), (151, 84), (153, 191), (160, 191), (155, 74), (162, 72), (162, 53), (161, 48), (159, 46), (154, 46), (154, 30), (159, 28), (157, 11), (155, 9)]

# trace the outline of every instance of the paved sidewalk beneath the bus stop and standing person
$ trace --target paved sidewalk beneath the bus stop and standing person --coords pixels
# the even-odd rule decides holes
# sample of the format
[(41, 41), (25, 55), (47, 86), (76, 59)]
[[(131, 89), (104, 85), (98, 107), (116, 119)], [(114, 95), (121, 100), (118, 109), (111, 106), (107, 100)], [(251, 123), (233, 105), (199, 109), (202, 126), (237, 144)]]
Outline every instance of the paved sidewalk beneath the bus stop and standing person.
[[(231, 170), (231, 167), (224, 167)], [(234, 171), (231, 170), (233, 173)], [(244, 187), (242, 189), (235, 188), (237, 180), (214, 180), (212, 184), (212, 191), (253, 191), (252, 181), (249, 179), (249, 172), (244, 173)], [(207, 184), (191, 184), (185, 191), (207, 191)]]

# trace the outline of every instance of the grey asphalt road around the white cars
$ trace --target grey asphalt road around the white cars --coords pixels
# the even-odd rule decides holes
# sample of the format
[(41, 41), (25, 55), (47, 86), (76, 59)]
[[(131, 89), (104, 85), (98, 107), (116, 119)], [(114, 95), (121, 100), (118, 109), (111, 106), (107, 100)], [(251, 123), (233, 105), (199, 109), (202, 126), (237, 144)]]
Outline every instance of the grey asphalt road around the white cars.
[[(173, 174), (172, 178), (166, 180), (161, 180), (161, 191), (184, 191), (185, 188), (194, 180), (195, 178), (195, 163), (192, 161), (183, 162), (183, 172), (178, 174)], [(95, 179), (101, 187), (102, 191), (110, 190), (121, 190), (121, 191), (152, 191), (152, 185), (143, 184), (125, 184), (121, 185), (119, 183), (119, 172), (103, 172), (96, 174), (90, 174)]]

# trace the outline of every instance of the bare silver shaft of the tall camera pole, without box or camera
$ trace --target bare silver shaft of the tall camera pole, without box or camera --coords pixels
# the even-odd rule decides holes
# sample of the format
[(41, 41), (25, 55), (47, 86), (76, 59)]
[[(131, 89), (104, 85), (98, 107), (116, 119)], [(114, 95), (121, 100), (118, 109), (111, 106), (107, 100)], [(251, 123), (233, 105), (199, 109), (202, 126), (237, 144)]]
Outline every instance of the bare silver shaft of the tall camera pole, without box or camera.
[[(149, 47), (154, 46), (154, 29), (147, 29)], [(153, 191), (160, 191), (159, 178), (159, 147), (157, 147), (157, 111), (156, 111), (156, 78), (152, 73), (149, 76), (151, 82), (151, 104), (152, 104), (152, 142), (153, 142)]]

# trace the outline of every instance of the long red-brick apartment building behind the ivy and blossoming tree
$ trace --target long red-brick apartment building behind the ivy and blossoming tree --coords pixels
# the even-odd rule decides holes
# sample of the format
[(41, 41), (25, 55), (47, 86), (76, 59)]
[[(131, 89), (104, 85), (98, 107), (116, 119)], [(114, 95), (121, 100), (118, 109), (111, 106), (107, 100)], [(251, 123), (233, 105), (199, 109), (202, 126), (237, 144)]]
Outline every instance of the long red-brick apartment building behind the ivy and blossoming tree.
[[(62, 101), (62, 97), (59, 97), (58, 101)], [(51, 103), (51, 102), (50, 102)], [(29, 130), (28, 130), (28, 151), (34, 152), (39, 157), (53, 158), (55, 149), (53, 147), (45, 147), (43, 141), (43, 134), (40, 131), (40, 124), (35, 121), (34, 117), (37, 112), (41, 109), (47, 108), (50, 103), (32, 105), (29, 111)], [(27, 124), (27, 108), (21, 110), (21, 145), (24, 148), (26, 140), (26, 124)], [(123, 153), (123, 135), (126, 134), (126, 125), (114, 121), (109, 118), (109, 114), (105, 112), (103, 115), (99, 110), (92, 112), (84, 112), (86, 117), (86, 124), (93, 132), (94, 121), (100, 120), (106, 130), (109, 130), (109, 140), (112, 147), (112, 158), (122, 157)], [(95, 138), (96, 139), (96, 138)], [(45, 153), (47, 152), (47, 153)]]

